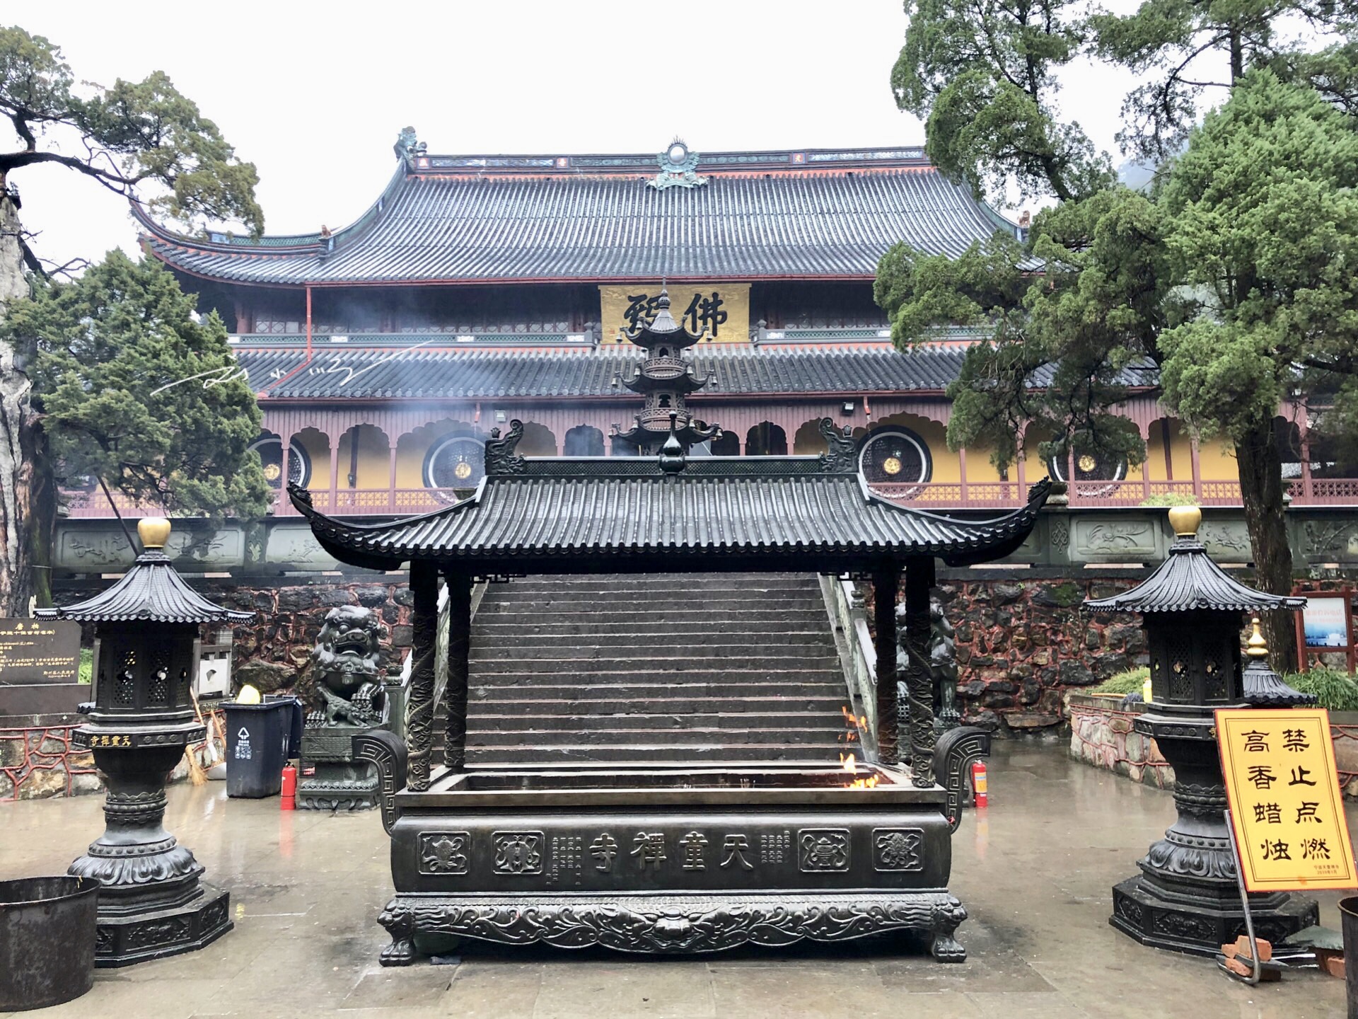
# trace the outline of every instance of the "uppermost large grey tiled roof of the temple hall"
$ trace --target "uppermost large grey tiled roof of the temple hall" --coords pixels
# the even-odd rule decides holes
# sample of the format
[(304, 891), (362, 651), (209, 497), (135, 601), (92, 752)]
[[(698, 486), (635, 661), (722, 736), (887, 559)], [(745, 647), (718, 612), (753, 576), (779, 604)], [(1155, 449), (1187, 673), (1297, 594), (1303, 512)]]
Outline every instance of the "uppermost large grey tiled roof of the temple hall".
[(636, 167), (399, 171), (373, 209), (325, 240), (213, 243), (143, 223), (152, 251), (187, 273), (270, 284), (868, 280), (898, 240), (957, 255), (995, 230), (1014, 230), (923, 159), (838, 155), (862, 162), (771, 173), (732, 163), (714, 166), (702, 186), (665, 190), (648, 187)]

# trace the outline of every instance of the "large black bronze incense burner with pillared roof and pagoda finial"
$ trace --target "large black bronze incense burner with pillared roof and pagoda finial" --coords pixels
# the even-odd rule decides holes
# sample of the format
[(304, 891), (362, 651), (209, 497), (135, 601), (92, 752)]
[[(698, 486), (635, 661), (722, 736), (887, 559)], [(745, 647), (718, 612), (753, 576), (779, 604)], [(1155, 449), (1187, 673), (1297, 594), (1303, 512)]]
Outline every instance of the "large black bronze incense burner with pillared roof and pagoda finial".
[[(663, 325), (633, 337), (653, 355), (642, 376), (657, 357), (672, 360), (697, 340)], [(934, 728), (934, 562), (1009, 554), (1032, 531), (1050, 486), (990, 520), (903, 508), (868, 490), (853, 440), (828, 421), (822, 433), (830, 450), (820, 457), (690, 457), (687, 447), (714, 431), (679, 421), (680, 397), (694, 385), (638, 383), (665, 412), (665, 431), (638, 421), (629, 437), (642, 454), (659, 444), (659, 455), (530, 459), (515, 454), (523, 427), (513, 421), (486, 444), (475, 493), (424, 516), (352, 524), (289, 489), (337, 560), (376, 569), (410, 564), (407, 742), (383, 731), (354, 738), (356, 757), (378, 766), (392, 840), (395, 897), (380, 917), (392, 940), (383, 963), (411, 962), (422, 935), (694, 952), (914, 932), (936, 958), (966, 958), (953, 939), (966, 910), (948, 891), (949, 836), (966, 770), (989, 736)], [(872, 579), (876, 761), (851, 774), (835, 762), (661, 766), (644, 762), (638, 749), (627, 766), (469, 770), (478, 577), (693, 572)], [(435, 762), (440, 579), (447, 727)], [(899, 629), (910, 652), (903, 727), (902, 590)], [(657, 620), (657, 632), (701, 626), (694, 605), (693, 618)]]

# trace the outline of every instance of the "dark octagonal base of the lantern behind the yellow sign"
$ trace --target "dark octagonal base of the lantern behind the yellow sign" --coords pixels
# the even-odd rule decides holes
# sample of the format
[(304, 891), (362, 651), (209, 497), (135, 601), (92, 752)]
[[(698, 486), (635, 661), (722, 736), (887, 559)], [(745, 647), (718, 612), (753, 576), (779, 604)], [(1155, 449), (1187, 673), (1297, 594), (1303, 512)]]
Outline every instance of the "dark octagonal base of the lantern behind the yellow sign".
[[(1251, 895), (1249, 916), (1255, 935), (1274, 944), (1305, 927), (1320, 923), (1315, 899), (1285, 893)], [(1240, 894), (1213, 901), (1172, 901), (1145, 875), (1128, 878), (1112, 889), (1112, 916), (1108, 923), (1141, 944), (1190, 955), (1217, 955), (1221, 946), (1245, 933)]]

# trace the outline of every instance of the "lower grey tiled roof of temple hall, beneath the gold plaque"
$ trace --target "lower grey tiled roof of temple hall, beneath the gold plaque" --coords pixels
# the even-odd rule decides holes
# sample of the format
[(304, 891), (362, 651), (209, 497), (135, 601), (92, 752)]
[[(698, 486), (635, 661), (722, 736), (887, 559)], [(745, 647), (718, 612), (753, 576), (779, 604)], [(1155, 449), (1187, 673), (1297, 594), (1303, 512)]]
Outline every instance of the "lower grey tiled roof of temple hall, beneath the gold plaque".
[[(614, 386), (640, 356), (629, 345), (584, 351), (240, 349), (255, 391), (270, 398), (481, 399), (505, 397), (630, 397)], [(956, 378), (963, 351), (760, 351), (714, 345), (693, 352), (694, 371), (713, 374), (710, 395), (774, 393), (941, 393)]]

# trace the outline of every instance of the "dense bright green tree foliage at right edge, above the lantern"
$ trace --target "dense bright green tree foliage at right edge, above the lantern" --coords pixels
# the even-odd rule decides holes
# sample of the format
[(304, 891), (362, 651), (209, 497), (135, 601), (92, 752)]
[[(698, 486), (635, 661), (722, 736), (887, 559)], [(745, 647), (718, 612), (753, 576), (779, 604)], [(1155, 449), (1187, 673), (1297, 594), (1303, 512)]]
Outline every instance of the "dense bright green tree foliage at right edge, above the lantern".
[(1358, 355), (1358, 133), (1270, 71), (1209, 113), (1164, 194), (1175, 274), (1195, 314), (1161, 336), (1165, 402), (1243, 442), (1298, 374)]

